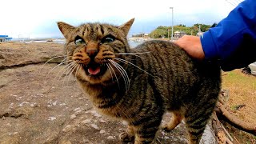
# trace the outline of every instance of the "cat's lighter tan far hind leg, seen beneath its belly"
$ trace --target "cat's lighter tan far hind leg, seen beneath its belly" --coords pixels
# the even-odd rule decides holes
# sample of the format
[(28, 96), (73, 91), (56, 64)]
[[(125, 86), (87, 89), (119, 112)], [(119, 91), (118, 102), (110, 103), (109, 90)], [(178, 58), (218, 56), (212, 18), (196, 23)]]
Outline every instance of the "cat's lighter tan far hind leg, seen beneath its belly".
[(178, 111), (173, 111), (170, 122), (162, 126), (162, 130), (170, 131), (173, 130), (179, 123), (182, 122), (183, 116)]

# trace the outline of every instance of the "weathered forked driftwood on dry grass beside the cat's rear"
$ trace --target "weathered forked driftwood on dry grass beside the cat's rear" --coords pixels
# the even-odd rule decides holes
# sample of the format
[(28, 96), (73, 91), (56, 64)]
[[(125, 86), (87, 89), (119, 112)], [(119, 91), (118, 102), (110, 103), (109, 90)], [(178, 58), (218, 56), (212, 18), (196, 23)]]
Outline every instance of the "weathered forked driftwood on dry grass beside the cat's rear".
[[(222, 123), (218, 120), (218, 118), (222, 118), (224, 121), (230, 123), (231, 126), (238, 128), (239, 130), (246, 131), (247, 133), (256, 135), (256, 125), (244, 122), (241, 119), (234, 116), (228, 111), (228, 107), (226, 106), (226, 102), (229, 98), (229, 90), (222, 90), (222, 94), (220, 94), (217, 106), (214, 110), (213, 118), (212, 118), (212, 125), (214, 129), (215, 136), (217, 138), (218, 143), (225, 144), (225, 143), (232, 143), (233, 138), (230, 136), (228, 131), (222, 126)], [(242, 106), (237, 106), (237, 110), (240, 109)]]

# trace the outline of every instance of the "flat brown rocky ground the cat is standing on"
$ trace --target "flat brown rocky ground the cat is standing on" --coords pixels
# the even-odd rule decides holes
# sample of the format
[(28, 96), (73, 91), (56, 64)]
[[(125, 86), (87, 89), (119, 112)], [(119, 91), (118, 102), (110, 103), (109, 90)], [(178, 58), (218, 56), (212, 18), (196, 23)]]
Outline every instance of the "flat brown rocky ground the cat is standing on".
[[(62, 46), (0, 43), (0, 143), (121, 143), (126, 123), (98, 114), (65, 65), (43, 64)], [(203, 143), (216, 143), (210, 133)], [(159, 130), (155, 143), (186, 143), (184, 124)]]

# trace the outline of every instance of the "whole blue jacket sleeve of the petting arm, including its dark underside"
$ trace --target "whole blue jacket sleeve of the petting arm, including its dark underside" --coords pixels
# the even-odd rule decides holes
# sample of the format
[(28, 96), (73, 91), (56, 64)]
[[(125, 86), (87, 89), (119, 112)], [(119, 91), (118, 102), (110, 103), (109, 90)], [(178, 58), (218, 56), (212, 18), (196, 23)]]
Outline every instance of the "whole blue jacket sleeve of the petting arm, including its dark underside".
[(218, 59), (222, 70), (256, 62), (256, 1), (241, 2), (200, 39), (206, 59)]

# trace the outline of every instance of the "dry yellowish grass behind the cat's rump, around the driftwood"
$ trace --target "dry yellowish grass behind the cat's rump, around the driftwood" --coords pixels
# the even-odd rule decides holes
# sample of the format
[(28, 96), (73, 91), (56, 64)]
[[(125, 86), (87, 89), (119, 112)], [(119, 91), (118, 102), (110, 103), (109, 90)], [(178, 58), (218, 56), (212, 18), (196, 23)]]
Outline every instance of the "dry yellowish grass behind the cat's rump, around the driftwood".
[[(256, 77), (242, 74), (242, 70), (233, 70), (222, 73), (222, 89), (230, 90), (228, 106), (230, 112), (245, 122), (256, 126)], [(245, 105), (236, 110), (235, 107)], [(256, 136), (246, 134), (233, 126), (225, 124), (234, 143), (256, 143)]]

